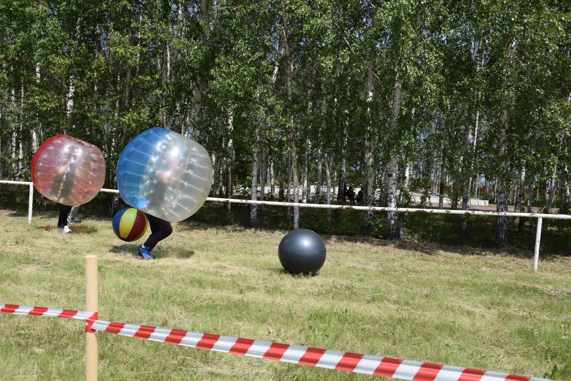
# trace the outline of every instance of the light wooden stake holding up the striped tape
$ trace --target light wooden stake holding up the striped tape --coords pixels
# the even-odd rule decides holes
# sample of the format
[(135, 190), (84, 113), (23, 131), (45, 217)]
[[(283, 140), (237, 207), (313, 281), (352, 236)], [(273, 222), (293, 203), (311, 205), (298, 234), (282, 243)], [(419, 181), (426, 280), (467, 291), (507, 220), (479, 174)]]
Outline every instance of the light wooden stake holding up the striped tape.
[[(97, 256), (85, 256), (85, 307), (97, 312)], [(85, 380), (97, 381), (97, 334), (85, 332)]]

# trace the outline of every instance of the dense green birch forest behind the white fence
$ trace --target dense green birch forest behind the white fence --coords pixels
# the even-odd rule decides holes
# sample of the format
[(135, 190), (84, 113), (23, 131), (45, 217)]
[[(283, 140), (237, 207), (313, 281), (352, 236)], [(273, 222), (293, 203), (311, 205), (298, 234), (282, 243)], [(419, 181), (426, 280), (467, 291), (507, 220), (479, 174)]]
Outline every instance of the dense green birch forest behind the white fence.
[[(497, 211), (568, 214), (570, 9), (0, 0), (0, 178), (30, 181), (38, 145), (68, 134), (103, 151), (104, 187), (116, 188), (123, 147), (159, 126), (206, 147), (212, 196), (348, 204), (351, 186), (361, 205), (467, 210), (482, 199)], [(0, 188), (3, 200), (16, 191)], [(113, 194), (99, 200), (108, 214), (119, 206)], [(287, 210), (293, 227), (299, 209)], [(325, 213), (329, 225), (339, 218)], [(250, 226), (263, 215), (251, 206)], [(396, 212), (359, 218), (357, 233), (380, 223), (388, 239), (406, 235)], [(471, 218), (458, 218), (466, 234)], [(502, 248), (510, 227), (534, 221), (493, 223)]]

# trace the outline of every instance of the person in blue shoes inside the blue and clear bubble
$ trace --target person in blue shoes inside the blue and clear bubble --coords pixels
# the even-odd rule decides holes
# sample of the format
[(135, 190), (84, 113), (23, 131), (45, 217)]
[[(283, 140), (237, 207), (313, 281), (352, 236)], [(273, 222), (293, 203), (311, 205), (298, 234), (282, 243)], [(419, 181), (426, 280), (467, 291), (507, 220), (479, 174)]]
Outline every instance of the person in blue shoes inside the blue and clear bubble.
[[(170, 166), (165, 165), (166, 162), (156, 163), (158, 164), (158, 168), (153, 170), (156, 172), (155, 176), (160, 180), (160, 183), (156, 184), (152, 190), (152, 194), (149, 197), (149, 204), (165, 202), (165, 200), (168, 199), (168, 193), (176, 192), (175, 189), (180, 187), (180, 181), (176, 178), (176, 171), (184, 170), (186, 159), (176, 157), (176, 152), (171, 152), (168, 158), (170, 159)], [(162, 168), (160, 164), (163, 164)], [(137, 259), (154, 259), (152, 258), (151, 250), (157, 243), (172, 234), (170, 222), (148, 213), (146, 215), (148, 226), (151, 228), (151, 235), (138, 247), (139, 254), (136, 257)]]

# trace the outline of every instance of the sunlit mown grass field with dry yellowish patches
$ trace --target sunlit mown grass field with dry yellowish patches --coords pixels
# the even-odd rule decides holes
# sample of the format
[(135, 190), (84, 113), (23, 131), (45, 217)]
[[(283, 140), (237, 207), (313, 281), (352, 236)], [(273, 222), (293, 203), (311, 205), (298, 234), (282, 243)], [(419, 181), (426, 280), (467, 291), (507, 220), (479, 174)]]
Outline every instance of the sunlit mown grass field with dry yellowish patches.
[[(0, 211), (0, 302), (84, 309), (84, 256), (99, 256), (103, 320), (571, 380), (571, 257), (532, 271), (529, 250), (323, 235), (316, 276), (282, 271), (285, 230), (174, 225), (153, 252), (81, 215)], [(307, 226), (304, 226), (307, 227)], [(1, 380), (80, 380), (83, 322), (0, 315)], [(369, 380), (373, 376), (99, 335), (100, 380)]]

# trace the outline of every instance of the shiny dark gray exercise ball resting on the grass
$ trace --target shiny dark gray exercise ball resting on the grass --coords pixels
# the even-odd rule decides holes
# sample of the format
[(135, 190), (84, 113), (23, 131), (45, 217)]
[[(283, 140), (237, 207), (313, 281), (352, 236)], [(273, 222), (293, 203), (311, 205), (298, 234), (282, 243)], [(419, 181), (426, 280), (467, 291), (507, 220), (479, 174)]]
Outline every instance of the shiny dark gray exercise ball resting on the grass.
[(325, 243), (307, 229), (290, 231), (280, 242), (278, 256), (282, 266), (293, 274), (315, 274), (325, 263)]

